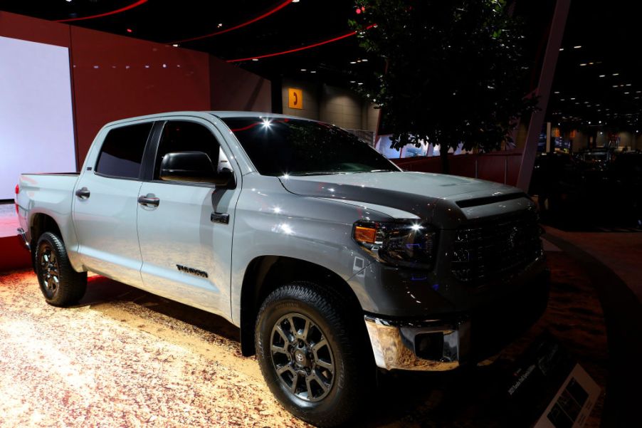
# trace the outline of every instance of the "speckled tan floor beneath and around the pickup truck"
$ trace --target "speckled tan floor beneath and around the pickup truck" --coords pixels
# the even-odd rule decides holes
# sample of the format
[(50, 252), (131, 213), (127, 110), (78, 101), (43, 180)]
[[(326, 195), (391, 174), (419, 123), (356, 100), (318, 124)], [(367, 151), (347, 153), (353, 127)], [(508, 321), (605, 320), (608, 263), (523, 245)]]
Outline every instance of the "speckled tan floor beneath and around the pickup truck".
[[(386, 379), (367, 427), (502, 427), (493, 383), (543, 330), (604, 389), (604, 319), (590, 281), (550, 252), (547, 313), (489, 367)], [(376, 404), (376, 405), (375, 405)], [(586, 427), (598, 427), (602, 400)], [(495, 409), (496, 410), (496, 409)], [(238, 331), (214, 315), (102, 277), (53, 308), (31, 271), (0, 274), (0, 427), (304, 427), (273, 400)]]

